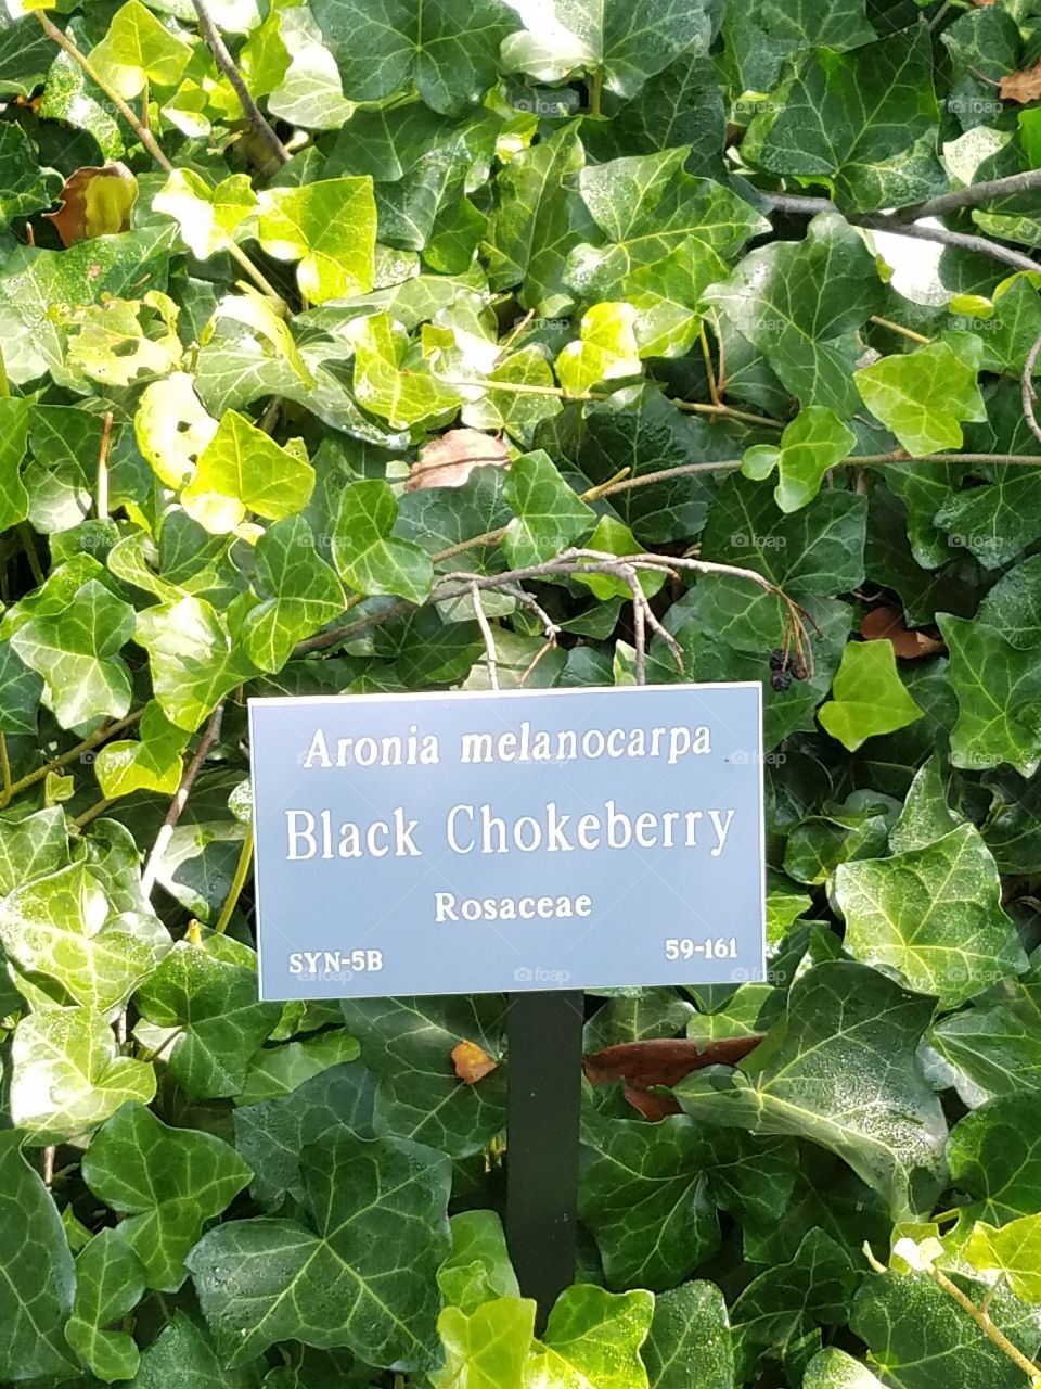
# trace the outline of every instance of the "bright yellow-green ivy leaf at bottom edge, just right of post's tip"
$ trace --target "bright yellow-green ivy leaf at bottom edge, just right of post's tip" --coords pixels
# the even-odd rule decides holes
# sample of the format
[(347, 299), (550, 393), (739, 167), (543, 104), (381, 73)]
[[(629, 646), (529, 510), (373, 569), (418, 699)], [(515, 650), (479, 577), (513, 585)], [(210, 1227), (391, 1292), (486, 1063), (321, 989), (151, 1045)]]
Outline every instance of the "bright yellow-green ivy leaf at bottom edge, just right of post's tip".
[(530, 1381), (561, 1389), (648, 1389), (640, 1347), (652, 1315), (654, 1297), (644, 1290), (565, 1288), (533, 1353)]

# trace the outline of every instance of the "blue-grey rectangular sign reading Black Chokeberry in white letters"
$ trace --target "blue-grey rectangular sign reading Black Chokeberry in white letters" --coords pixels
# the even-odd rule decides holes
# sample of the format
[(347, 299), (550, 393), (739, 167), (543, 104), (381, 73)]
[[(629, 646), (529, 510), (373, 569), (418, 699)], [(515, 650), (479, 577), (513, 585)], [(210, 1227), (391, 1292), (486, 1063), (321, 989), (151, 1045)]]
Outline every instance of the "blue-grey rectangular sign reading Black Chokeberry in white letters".
[(761, 701), (250, 700), (261, 997), (763, 979)]

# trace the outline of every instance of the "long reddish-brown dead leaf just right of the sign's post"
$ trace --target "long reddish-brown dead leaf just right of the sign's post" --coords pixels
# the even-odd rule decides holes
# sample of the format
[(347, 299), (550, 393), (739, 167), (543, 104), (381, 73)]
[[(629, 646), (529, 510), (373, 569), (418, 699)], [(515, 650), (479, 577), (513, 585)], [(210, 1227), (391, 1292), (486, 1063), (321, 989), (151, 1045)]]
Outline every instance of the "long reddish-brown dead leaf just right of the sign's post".
[(654, 1086), (672, 1088), (705, 1065), (737, 1065), (762, 1036), (722, 1038), (705, 1046), (690, 1038), (652, 1038), (648, 1042), (620, 1042), (584, 1056), (583, 1070), (590, 1085), (622, 1081), (626, 1100), (644, 1118), (657, 1122), (679, 1114), (680, 1106), (670, 1096), (652, 1095)]

